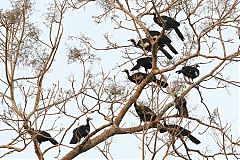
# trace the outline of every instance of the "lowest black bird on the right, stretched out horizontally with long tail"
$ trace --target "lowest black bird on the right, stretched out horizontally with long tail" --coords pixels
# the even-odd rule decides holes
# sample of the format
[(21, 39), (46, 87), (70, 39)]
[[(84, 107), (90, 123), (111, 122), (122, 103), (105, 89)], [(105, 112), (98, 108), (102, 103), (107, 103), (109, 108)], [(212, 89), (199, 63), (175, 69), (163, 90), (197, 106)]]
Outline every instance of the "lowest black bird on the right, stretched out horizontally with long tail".
[(191, 131), (189, 131), (189, 130), (181, 127), (181, 126), (178, 126), (178, 125), (167, 125), (164, 122), (164, 126), (162, 128), (160, 128), (159, 132), (164, 133), (164, 132), (167, 132), (167, 131), (172, 136), (176, 136), (176, 137), (179, 137), (179, 138), (187, 136), (193, 143), (195, 143), (195, 144), (200, 144), (201, 143), (196, 137), (191, 135)]

